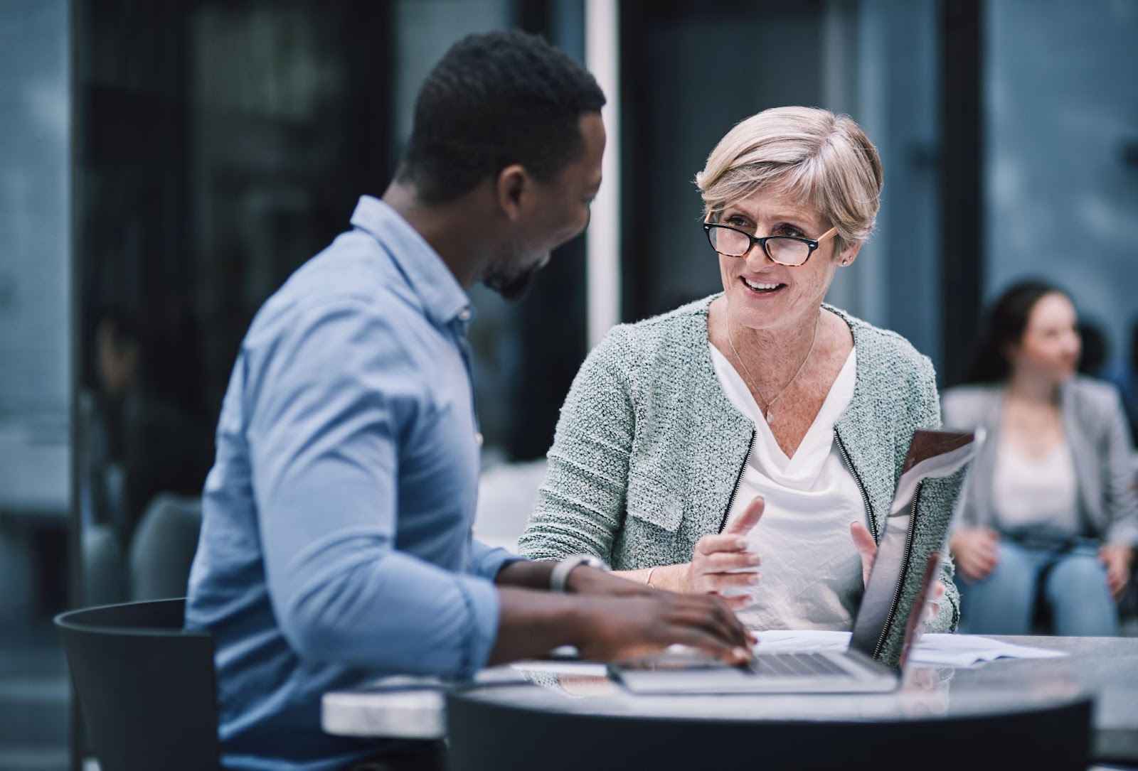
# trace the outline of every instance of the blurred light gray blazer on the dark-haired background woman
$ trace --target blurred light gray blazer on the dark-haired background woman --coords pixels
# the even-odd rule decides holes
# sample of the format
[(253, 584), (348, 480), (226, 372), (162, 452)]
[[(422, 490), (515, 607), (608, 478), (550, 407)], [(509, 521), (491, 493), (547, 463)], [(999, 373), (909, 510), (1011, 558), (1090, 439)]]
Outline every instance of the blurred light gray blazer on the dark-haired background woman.
[[(988, 432), (964, 482), (957, 525), (997, 528), (992, 482), (1003, 404), (1004, 387), (998, 384), (945, 391), (946, 425), (968, 430), (983, 426)], [(1138, 544), (1135, 455), (1119, 392), (1108, 383), (1075, 378), (1059, 389), (1059, 404), (1087, 534)]]

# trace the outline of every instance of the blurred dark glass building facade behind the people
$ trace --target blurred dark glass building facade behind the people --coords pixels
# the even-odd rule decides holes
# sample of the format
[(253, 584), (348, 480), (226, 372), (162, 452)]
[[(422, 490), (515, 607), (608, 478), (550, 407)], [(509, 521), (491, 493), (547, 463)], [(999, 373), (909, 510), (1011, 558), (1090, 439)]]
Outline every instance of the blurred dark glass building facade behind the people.
[(517, 305), (473, 291), (489, 473), (539, 474), (498, 464), (544, 456), (609, 325), (719, 289), (693, 176), (778, 105), (884, 161), (834, 304), (943, 386), (986, 299), (1044, 276), (1133, 389), (1130, 0), (0, 0), (0, 769), (68, 765), (51, 614), (146, 595), (140, 523), (192, 517), (253, 314), (382, 193), (443, 51), (502, 27), (585, 61), (616, 131), (587, 238)]

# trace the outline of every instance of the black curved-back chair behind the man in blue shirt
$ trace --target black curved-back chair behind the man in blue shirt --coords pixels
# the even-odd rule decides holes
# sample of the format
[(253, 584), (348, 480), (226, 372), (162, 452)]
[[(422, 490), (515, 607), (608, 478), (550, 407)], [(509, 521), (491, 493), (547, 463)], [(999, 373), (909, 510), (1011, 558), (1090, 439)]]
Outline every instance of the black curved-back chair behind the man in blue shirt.
[(101, 771), (220, 768), (213, 638), (182, 629), (185, 600), (56, 616)]

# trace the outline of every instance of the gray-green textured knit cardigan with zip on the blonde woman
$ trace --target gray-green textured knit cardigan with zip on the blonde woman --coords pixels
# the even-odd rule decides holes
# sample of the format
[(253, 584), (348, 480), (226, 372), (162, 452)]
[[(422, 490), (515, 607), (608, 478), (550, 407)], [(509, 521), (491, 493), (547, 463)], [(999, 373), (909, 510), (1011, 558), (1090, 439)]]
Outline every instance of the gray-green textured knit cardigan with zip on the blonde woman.
[[(723, 529), (754, 424), (727, 399), (711, 363), (708, 307), (716, 297), (616, 326), (588, 355), (561, 408), (522, 554), (591, 554), (634, 570), (687, 562), (695, 541)], [(826, 307), (849, 324), (857, 347), (853, 397), (834, 432), (880, 538), (914, 430), (940, 426), (933, 367), (899, 334)], [(913, 564), (943, 552), (930, 531), (945, 531), (962, 475), (924, 483)], [(947, 554), (941, 565), (947, 592), (930, 631), (955, 630), (959, 617)], [(916, 586), (906, 582), (908, 598)], [(893, 627), (887, 654), (896, 655), (902, 624)]]

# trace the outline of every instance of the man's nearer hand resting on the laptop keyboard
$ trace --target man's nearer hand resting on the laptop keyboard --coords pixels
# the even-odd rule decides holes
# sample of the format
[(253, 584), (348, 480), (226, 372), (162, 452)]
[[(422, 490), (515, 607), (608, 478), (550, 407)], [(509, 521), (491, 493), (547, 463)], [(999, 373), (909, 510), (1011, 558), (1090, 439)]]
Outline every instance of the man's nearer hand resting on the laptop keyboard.
[(728, 664), (751, 658), (751, 639), (721, 598), (655, 591), (582, 597), (577, 649), (593, 661), (619, 661), (686, 645)]

